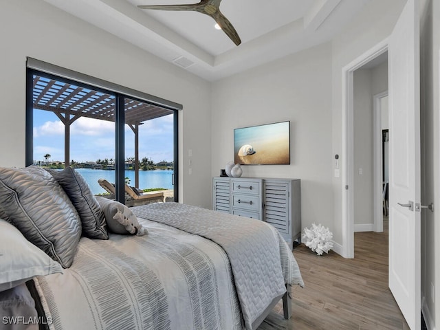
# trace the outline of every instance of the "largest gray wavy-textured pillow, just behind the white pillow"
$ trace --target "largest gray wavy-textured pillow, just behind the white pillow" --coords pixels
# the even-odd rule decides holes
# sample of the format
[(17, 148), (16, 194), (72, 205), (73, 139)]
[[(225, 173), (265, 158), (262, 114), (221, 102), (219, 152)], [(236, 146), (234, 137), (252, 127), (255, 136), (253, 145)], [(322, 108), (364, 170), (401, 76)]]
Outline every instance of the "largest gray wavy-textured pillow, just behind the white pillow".
[(0, 208), (28, 241), (63, 267), (72, 265), (81, 220), (63, 188), (46, 170), (0, 167)]

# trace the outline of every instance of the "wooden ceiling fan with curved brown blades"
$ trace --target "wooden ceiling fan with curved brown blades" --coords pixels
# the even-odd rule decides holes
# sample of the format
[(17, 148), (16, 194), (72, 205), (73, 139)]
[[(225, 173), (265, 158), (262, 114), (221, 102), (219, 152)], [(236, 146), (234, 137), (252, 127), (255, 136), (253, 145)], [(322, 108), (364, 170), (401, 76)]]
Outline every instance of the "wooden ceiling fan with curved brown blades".
[(199, 3), (191, 3), (185, 5), (138, 5), (141, 9), (155, 9), (155, 10), (192, 10), (194, 12), (201, 12), (206, 14), (220, 26), (221, 30), (235, 43), (240, 45), (241, 40), (239, 34), (232, 26), (231, 22), (220, 12), (221, 0), (201, 0)]

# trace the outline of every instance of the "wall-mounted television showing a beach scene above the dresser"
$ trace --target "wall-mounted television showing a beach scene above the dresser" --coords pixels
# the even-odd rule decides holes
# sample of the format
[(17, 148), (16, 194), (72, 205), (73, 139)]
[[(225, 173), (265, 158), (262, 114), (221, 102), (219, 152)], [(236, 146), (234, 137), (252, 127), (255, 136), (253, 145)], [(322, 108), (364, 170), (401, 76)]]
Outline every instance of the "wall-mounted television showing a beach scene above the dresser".
[(290, 122), (234, 129), (234, 163), (290, 164)]

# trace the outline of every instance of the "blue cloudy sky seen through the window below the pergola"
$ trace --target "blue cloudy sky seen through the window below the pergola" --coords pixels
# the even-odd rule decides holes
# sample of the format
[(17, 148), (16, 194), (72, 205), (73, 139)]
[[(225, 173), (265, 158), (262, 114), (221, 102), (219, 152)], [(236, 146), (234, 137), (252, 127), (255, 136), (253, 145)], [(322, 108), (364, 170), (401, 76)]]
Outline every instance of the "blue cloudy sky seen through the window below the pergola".
[[(79, 118), (70, 128), (70, 160), (96, 162), (115, 158), (113, 122)], [(139, 157), (173, 161), (173, 115), (148, 120), (139, 129)], [(34, 160), (64, 161), (64, 124), (51, 111), (34, 110)], [(125, 129), (125, 157), (134, 157), (134, 133)]]

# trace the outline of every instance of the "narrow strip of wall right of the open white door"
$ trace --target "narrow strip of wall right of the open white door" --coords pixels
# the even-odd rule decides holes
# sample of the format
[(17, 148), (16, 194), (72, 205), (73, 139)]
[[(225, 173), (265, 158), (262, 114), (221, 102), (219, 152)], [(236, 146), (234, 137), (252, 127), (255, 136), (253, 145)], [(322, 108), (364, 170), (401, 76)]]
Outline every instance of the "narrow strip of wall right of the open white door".
[[(440, 3), (421, 1), (421, 297), (428, 329), (440, 320)], [(436, 327), (437, 323), (437, 327)]]

